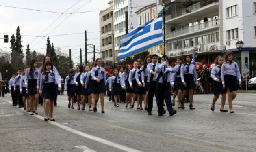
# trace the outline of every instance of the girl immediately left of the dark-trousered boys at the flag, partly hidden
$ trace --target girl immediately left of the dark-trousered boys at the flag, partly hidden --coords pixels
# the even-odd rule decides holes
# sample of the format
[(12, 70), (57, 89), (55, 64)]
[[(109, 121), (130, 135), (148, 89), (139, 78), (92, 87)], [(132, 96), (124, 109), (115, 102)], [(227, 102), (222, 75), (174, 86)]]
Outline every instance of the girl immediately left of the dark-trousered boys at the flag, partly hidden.
[(144, 65), (142, 67), (142, 70), (144, 71), (144, 81), (145, 81), (145, 94), (143, 95), (144, 100), (144, 110), (148, 110), (148, 75), (150, 74), (148, 70), (148, 64), (151, 63), (151, 57), (147, 56), (144, 61)]

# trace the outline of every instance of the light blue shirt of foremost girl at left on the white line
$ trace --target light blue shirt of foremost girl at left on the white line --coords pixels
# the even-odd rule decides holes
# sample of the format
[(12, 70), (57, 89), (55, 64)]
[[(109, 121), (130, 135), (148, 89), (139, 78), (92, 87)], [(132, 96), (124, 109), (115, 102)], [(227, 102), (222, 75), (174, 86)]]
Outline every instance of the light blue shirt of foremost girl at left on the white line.
[[(49, 71), (46, 71), (49, 72)], [(56, 73), (52, 70), (50, 70), (50, 73), (48, 73), (48, 81), (44, 82), (46, 75), (41, 74), (40, 78), (40, 87), (39, 87), (39, 92), (42, 93), (43, 90), (43, 84), (44, 83), (52, 83), (55, 82), (55, 84), (58, 84), (59, 87), (61, 87), (61, 81), (59, 80), (59, 73)], [(43, 83), (44, 82), (44, 83)]]

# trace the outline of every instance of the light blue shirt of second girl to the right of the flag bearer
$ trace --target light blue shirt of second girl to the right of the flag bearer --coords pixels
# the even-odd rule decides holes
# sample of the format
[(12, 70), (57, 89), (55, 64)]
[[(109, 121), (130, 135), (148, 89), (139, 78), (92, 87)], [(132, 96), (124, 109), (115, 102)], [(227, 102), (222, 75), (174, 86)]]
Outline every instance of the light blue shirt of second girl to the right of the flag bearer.
[[(188, 66), (188, 65), (189, 65), (189, 66)], [(188, 68), (189, 68), (189, 71), (187, 72), (187, 69), (188, 69)], [(180, 68), (180, 77), (181, 77), (181, 81), (182, 81), (182, 82), (185, 82), (185, 80), (184, 80), (184, 74), (193, 74), (195, 84), (198, 84), (198, 82), (197, 82), (197, 76), (196, 76), (196, 71), (195, 71), (195, 65), (189, 64), (189, 63), (182, 64), (182, 65), (181, 65), (181, 68)]]

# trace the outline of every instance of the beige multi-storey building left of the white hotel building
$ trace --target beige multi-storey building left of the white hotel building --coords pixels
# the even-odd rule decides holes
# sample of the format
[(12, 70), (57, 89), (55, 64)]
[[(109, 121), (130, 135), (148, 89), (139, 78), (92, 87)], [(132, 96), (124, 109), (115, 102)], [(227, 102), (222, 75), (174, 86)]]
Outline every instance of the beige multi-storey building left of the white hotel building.
[(100, 16), (100, 57), (103, 61), (113, 61), (114, 53), (114, 22), (113, 22), (113, 0), (108, 2), (109, 7), (101, 11)]

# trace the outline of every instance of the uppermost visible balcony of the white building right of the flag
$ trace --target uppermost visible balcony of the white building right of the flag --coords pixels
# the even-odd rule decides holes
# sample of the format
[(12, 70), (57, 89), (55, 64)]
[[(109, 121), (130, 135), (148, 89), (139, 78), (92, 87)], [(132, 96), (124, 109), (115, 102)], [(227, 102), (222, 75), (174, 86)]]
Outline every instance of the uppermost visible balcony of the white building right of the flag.
[(213, 12), (219, 13), (219, 0), (208, 0), (206, 2), (198, 2), (196, 4), (193, 4), (192, 6), (172, 13), (171, 15), (167, 15), (165, 20), (166, 23), (178, 24), (187, 21), (191, 18), (199, 18), (201, 16), (205, 17), (205, 15), (208, 15), (209, 13)]

